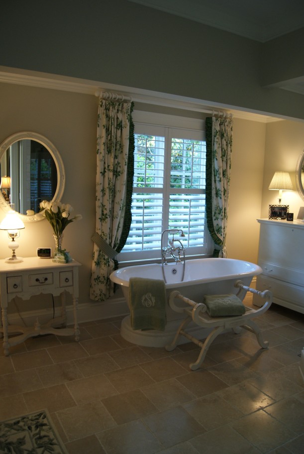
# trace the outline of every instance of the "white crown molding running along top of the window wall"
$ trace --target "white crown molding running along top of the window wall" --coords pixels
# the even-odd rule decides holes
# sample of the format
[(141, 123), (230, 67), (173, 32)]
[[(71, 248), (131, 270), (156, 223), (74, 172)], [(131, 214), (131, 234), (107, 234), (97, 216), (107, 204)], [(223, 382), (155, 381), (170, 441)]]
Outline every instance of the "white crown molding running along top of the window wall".
[(240, 118), (261, 123), (269, 123), (282, 120), (273, 114), (261, 113), (255, 110), (244, 110), (236, 106), (210, 102), (202, 99), (179, 96), (175, 94), (149, 91), (132, 87), (124, 87), (87, 79), (78, 79), (56, 74), (28, 71), (18, 68), (0, 66), (0, 83), (15, 84), (21, 86), (43, 88), (48, 90), (70, 91), (89, 95), (98, 95), (101, 91), (115, 91), (118, 94), (130, 96), (135, 102), (161, 105), (202, 113), (216, 113), (225, 111), (231, 113), (234, 118)]

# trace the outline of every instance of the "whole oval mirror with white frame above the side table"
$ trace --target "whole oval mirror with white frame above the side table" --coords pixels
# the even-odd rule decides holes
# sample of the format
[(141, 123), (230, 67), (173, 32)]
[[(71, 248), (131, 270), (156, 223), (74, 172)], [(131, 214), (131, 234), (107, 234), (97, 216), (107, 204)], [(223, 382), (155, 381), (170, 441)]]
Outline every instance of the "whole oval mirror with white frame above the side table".
[(36, 220), (33, 214), (42, 200), (60, 200), (64, 189), (59, 153), (36, 133), (17, 133), (0, 145), (0, 176), (1, 206), (13, 203), (26, 221)]

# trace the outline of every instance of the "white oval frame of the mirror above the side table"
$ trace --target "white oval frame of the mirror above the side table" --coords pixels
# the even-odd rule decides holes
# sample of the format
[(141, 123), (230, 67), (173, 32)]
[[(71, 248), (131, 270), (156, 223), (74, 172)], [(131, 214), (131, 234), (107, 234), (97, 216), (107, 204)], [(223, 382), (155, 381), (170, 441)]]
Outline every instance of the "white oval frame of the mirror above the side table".
[[(12, 134), (11, 136), (7, 137), (0, 145), (0, 160), (2, 159), (2, 156), (4, 155), (8, 147), (10, 147), (13, 143), (17, 142), (18, 140), (22, 139), (35, 140), (36, 142), (39, 142), (49, 151), (49, 153), (53, 157), (57, 169), (57, 188), (54, 197), (52, 198), (52, 201), (54, 200), (60, 201), (65, 186), (64, 165), (58, 150), (52, 144), (52, 142), (50, 142), (46, 137), (31, 131), (22, 131)], [(0, 191), (0, 207), (5, 213), (10, 211), (9, 205), (4, 200), (1, 191)], [(18, 215), (20, 216), (23, 222), (34, 222), (40, 220), (36, 219), (34, 214), (26, 215), (18, 213)]]

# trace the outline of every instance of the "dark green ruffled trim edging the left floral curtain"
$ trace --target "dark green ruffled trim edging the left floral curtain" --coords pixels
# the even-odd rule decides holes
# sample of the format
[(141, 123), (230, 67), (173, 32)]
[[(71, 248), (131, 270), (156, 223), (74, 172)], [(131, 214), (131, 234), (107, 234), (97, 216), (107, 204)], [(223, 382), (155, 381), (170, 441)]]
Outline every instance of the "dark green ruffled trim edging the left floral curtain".
[[(116, 248), (116, 252), (123, 249), (131, 227), (132, 221), (132, 194), (133, 194), (133, 177), (134, 177), (134, 152), (135, 152), (135, 139), (134, 139), (134, 122), (132, 112), (134, 109), (134, 102), (131, 102), (130, 108), (130, 125), (129, 125), (129, 148), (128, 148), (128, 165), (127, 165), (127, 179), (126, 179), (126, 206), (123, 220), (123, 227), (119, 244)], [(118, 269), (118, 261), (114, 259), (114, 270)]]

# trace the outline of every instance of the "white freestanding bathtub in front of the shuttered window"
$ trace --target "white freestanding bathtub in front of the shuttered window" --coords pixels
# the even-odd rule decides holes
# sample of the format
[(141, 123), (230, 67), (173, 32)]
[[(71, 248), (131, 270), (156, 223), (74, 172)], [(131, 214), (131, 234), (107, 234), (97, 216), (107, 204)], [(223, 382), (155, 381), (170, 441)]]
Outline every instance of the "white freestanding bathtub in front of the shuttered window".
[[(164, 265), (167, 283), (165, 284), (167, 297), (172, 290), (180, 291), (187, 298), (196, 302), (203, 302), (204, 295), (237, 293), (234, 287), (236, 280), (241, 280), (249, 286), (253, 276), (262, 273), (262, 269), (253, 263), (236, 259), (194, 259), (185, 262), (185, 276), (183, 275), (183, 263), (171, 263)], [(163, 279), (161, 264), (136, 265), (121, 268), (111, 273), (110, 279), (121, 285), (123, 296), (129, 304), (129, 279), (130, 277), (146, 277), (150, 279)], [(245, 292), (239, 297), (243, 299)], [(164, 347), (170, 343), (183, 318), (182, 314), (174, 312), (169, 305), (166, 308), (167, 325), (165, 331), (156, 330), (133, 330), (130, 325), (130, 316), (125, 317), (121, 323), (121, 336), (132, 344), (145, 347)], [(193, 324), (190, 327), (193, 335), (203, 339), (207, 336), (206, 330), (202, 330)], [(198, 333), (198, 331), (200, 331)], [(187, 342), (186, 339), (183, 342)]]

